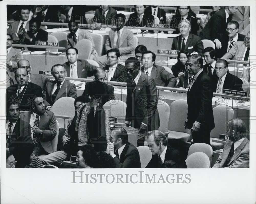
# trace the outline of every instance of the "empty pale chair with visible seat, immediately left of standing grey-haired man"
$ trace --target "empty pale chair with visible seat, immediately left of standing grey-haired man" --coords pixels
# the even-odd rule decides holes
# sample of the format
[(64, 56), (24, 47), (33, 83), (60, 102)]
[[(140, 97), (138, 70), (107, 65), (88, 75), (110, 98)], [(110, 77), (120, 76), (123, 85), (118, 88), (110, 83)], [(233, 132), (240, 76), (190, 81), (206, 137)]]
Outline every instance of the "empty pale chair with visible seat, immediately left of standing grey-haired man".
[(191, 138), (191, 131), (185, 129), (184, 122), (187, 118), (188, 104), (186, 100), (176, 100), (170, 106), (168, 140), (180, 140), (188, 142)]

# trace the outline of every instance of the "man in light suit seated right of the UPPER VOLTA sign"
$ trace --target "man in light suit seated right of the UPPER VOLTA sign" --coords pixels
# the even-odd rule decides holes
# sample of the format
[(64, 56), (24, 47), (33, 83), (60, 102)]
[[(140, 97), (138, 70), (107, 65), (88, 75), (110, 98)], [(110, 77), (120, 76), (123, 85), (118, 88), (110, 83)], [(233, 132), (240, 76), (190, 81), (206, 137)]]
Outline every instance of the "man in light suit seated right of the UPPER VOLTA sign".
[(76, 47), (77, 42), (82, 39), (90, 40), (92, 43), (92, 51), (89, 59), (97, 59), (99, 57), (97, 51), (95, 50), (94, 41), (92, 39), (91, 33), (88, 30), (80, 29), (78, 26), (78, 21), (69, 21), (68, 28), (70, 33), (68, 34), (68, 43), (70, 47)]

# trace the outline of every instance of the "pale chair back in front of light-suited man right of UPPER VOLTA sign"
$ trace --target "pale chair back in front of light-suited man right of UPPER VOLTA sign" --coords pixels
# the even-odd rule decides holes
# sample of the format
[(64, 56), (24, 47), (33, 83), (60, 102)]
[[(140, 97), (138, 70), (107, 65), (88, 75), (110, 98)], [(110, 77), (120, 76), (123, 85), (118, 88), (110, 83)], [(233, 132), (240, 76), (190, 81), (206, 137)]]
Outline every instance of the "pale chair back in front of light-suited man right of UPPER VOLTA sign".
[(92, 42), (87, 39), (82, 39), (77, 42), (76, 49), (79, 53), (79, 59), (89, 59), (92, 52)]

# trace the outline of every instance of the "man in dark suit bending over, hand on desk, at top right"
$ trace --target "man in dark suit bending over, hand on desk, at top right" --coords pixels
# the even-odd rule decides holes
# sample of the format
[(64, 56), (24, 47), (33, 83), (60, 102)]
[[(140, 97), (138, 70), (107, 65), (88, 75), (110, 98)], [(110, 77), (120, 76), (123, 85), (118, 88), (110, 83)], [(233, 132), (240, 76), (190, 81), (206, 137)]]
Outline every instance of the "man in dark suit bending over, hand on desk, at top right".
[(230, 15), (236, 13), (237, 6), (225, 6), (216, 12), (200, 32), (201, 39), (208, 39), (216, 44), (217, 49), (223, 46), (227, 23), (231, 20)]

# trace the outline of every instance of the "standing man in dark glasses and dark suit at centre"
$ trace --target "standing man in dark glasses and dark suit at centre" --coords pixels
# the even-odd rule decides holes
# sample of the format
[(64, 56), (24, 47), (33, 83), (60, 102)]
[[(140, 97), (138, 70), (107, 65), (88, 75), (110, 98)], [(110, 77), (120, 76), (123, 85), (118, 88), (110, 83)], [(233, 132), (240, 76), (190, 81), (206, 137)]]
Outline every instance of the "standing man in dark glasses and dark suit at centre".
[[(145, 131), (158, 130), (157, 89), (154, 79), (140, 71), (140, 62), (135, 57), (125, 61), (127, 72), (126, 126), (139, 128), (139, 136)], [(137, 146), (144, 145), (144, 138)]]

